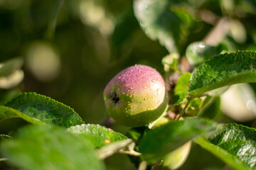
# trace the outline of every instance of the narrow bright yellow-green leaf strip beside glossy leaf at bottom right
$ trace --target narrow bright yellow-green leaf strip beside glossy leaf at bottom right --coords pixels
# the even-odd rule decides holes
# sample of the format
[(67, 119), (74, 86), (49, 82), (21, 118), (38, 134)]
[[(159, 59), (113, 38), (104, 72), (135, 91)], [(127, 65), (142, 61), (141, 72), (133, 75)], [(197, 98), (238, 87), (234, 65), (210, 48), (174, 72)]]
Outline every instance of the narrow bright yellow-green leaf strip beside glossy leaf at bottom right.
[(214, 154), (216, 157), (220, 158), (228, 164), (233, 169), (237, 170), (251, 170), (249, 166), (247, 166), (244, 162), (242, 162), (240, 159), (235, 157), (233, 154), (230, 154), (229, 152), (225, 151), (225, 149), (222, 149), (221, 147), (218, 147), (216, 145), (211, 144), (210, 142), (207, 142), (203, 138), (198, 138), (195, 140), (195, 142), (203, 147), (203, 149), (208, 150), (208, 152)]

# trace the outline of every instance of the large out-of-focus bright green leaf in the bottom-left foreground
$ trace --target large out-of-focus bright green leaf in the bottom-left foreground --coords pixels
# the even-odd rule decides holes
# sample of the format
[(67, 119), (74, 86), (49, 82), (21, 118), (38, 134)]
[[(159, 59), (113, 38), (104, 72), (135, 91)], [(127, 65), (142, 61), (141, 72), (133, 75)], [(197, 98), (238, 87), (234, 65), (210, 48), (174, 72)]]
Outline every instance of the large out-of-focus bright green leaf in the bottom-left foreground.
[(30, 125), (1, 143), (1, 152), (21, 169), (104, 169), (93, 145), (58, 126)]

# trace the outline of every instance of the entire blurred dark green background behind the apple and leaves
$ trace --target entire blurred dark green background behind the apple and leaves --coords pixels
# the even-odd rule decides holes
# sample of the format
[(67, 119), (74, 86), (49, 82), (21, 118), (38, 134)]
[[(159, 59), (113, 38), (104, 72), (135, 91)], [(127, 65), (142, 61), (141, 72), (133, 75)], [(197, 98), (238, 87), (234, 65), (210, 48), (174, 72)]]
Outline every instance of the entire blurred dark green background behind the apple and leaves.
[[(190, 11), (193, 22), (178, 47), (181, 57), (189, 44), (206, 38), (220, 18), (230, 21), (230, 29), (223, 37), (230, 51), (256, 49), (254, 0), (181, 1), (188, 2), (195, 4)], [(134, 16), (133, 3), (132, 0), (0, 0), (0, 62), (18, 56), (24, 59), (24, 79), (11, 89), (12, 93), (34, 91), (50, 96), (74, 108), (85, 123), (104, 123), (109, 117), (102, 98), (107, 82), (133, 64), (147, 64), (164, 74), (161, 60), (170, 52), (144, 33)], [(1, 90), (1, 95), (7, 91), (8, 88)], [(218, 120), (239, 121), (225, 115)], [(244, 124), (255, 125), (255, 118)], [(118, 132), (127, 130), (120, 125), (111, 128)], [(199, 157), (202, 154), (206, 156)], [(134, 169), (124, 155), (114, 155), (106, 162), (108, 169)], [(193, 146), (188, 162), (181, 169), (228, 167)]]

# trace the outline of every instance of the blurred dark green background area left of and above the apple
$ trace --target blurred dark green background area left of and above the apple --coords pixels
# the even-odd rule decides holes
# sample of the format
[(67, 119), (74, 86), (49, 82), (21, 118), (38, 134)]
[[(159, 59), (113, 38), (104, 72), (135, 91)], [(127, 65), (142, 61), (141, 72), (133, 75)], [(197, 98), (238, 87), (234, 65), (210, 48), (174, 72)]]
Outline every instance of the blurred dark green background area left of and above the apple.
[(0, 1), (0, 62), (25, 59), (22, 91), (74, 108), (85, 123), (107, 118), (102, 93), (136, 63), (162, 72), (167, 54), (144, 35), (132, 1)]

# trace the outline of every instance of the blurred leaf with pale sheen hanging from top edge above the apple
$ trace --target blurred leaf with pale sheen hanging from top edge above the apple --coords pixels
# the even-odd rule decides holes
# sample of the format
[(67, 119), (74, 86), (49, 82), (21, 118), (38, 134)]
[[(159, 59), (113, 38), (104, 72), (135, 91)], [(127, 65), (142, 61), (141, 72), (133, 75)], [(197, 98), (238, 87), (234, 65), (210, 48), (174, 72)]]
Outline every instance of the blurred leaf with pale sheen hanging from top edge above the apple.
[(193, 18), (184, 1), (136, 0), (134, 13), (152, 40), (159, 40), (169, 52), (177, 51), (186, 40)]

